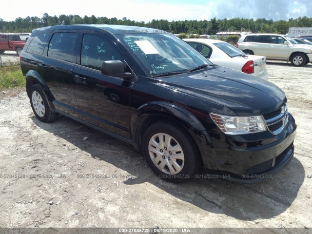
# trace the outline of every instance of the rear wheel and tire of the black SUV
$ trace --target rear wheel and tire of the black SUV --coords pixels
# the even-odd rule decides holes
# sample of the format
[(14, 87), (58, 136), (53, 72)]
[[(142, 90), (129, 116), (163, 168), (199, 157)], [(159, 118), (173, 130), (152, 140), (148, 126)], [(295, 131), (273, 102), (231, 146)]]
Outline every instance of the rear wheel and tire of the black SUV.
[(30, 105), (35, 116), (42, 122), (51, 122), (58, 117), (52, 112), (39, 84), (34, 84), (30, 88)]

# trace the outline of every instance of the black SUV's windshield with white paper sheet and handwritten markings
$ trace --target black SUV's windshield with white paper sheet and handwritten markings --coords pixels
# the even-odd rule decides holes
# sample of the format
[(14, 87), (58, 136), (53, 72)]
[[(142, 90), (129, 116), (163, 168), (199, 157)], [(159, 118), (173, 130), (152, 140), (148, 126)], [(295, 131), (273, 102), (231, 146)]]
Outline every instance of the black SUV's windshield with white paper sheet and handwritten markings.
[(212, 64), (192, 46), (172, 34), (131, 34), (118, 37), (151, 77), (189, 72)]

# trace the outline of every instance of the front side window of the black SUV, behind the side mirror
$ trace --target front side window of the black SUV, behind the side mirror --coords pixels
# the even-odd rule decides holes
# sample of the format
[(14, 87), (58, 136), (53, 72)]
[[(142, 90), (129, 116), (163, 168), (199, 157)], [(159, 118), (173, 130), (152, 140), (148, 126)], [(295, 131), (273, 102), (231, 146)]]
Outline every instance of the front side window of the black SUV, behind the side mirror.
[(80, 64), (101, 70), (102, 63), (106, 60), (123, 61), (123, 57), (118, 52), (114, 42), (93, 34), (84, 34), (81, 45)]

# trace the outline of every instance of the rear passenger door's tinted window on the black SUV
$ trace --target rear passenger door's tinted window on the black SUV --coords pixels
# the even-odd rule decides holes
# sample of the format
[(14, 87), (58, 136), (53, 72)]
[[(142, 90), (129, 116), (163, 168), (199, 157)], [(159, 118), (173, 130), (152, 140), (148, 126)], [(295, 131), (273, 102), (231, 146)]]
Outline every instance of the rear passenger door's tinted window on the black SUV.
[(55, 33), (49, 43), (48, 57), (76, 62), (75, 33)]

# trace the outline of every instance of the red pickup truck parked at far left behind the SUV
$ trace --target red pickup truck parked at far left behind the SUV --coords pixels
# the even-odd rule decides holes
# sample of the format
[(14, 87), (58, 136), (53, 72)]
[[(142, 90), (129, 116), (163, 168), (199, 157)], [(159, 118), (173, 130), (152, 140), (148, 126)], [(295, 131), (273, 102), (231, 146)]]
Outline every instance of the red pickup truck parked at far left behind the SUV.
[(0, 54), (4, 51), (16, 51), (20, 55), (29, 34), (0, 34)]

